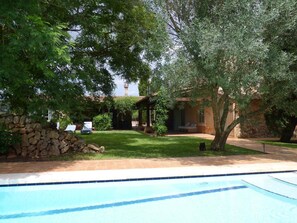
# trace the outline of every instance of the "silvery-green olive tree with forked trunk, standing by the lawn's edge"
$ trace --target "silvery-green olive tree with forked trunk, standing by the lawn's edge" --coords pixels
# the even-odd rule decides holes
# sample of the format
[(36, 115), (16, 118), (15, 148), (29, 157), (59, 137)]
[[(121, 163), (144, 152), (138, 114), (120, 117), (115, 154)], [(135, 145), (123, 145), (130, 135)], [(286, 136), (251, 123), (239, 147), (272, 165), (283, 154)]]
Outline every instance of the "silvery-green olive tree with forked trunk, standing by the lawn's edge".
[[(296, 25), (296, 1), (166, 0), (157, 6), (175, 42), (164, 68), (167, 88), (210, 104), (213, 150), (224, 149), (237, 124), (286, 97), (281, 86), (294, 88), (289, 67), (295, 58), (280, 43)], [(254, 97), (262, 97), (256, 111), (249, 106)], [(238, 117), (227, 124), (230, 111)]]

